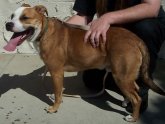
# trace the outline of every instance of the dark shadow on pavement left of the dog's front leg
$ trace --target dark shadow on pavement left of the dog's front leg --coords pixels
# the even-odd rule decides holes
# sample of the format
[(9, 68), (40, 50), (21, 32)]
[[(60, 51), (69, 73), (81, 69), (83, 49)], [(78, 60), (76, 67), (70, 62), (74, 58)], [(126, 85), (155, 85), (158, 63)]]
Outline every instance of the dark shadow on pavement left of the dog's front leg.
[(40, 76), (43, 71), (44, 67), (37, 69), (27, 75), (2, 75), (0, 78), (0, 96), (10, 89), (20, 88), (28, 94), (31, 94), (48, 104), (52, 104), (45, 95), (46, 91), (43, 87), (43, 82)]

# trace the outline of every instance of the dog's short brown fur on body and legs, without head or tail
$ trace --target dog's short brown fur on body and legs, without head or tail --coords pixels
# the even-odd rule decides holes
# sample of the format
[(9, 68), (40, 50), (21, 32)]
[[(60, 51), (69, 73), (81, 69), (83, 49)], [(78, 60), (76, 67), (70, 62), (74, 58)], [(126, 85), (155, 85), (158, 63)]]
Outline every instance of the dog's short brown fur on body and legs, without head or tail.
[(111, 69), (116, 84), (132, 101), (133, 117), (137, 120), (141, 98), (137, 93), (135, 79), (142, 65), (143, 55), (139, 49), (144, 45), (142, 41), (130, 31), (111, 27), (107, 32), (106, 45), (93, 48), (89, 42), (85, 44), (83, 41), (86, 31), (68, 27), (56, 19), (48, 21), (49, 29), (40, 40), (40, 55), (54, 82), (56, 101), (48, 111), (55, 112), (59, 108), (64, 71), (106, 68)]

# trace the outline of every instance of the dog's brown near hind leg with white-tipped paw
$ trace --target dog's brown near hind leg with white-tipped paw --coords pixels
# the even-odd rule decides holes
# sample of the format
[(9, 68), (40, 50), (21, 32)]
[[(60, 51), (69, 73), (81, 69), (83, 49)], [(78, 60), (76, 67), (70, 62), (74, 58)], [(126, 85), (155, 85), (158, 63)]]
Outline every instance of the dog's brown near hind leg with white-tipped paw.
[(138, 69), (126, 67), (125, 70), (121, 68), (113, 68), (112, 75), (115, 82), (124, 97), (131, 102), (133, 107), (132, 115), (126, 116), (125, 120), (128, 122), (135, 122), (139, 118), (139, 110), (141, 105), (141, 98), (138, 95), (138, 86), (135, 82), (137, 77)]

